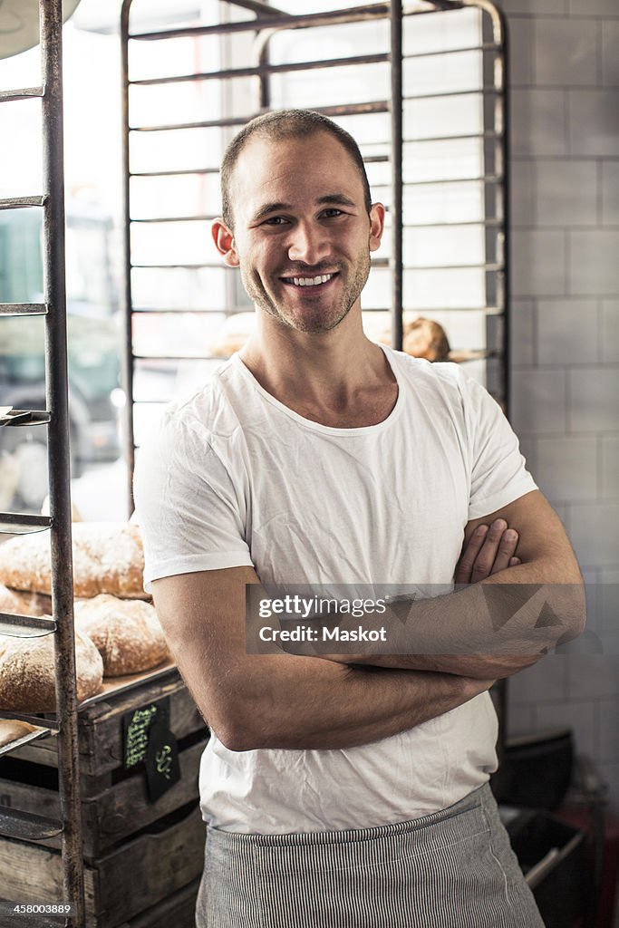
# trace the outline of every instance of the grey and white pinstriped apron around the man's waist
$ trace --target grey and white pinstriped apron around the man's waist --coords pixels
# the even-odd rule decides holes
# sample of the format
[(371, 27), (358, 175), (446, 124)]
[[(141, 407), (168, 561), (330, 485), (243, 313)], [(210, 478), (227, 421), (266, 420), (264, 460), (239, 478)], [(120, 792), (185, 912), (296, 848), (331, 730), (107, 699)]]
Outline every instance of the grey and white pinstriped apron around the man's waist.
[(209, 829), (197, 928), (544, 928), (490, 787), (354, 831)]

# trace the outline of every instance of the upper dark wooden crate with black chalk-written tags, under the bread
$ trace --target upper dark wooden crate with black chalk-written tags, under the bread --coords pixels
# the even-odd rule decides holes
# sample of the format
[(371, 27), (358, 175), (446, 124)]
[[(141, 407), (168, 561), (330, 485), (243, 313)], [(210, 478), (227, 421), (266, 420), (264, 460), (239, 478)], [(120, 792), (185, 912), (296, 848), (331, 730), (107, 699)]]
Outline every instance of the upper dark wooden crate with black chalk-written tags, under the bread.
[[(123, 768), (123, 715), (170, 701), (181, 778), (156, 801), (148, 797), (143, 765)], [(176, 670), (161, 681), (119, 692), (79, 716), (84, 859), (93, 861), (136, 831), (199, 796), (200, 755), (208, 730)], [(0, 804), (58, 818), (58, 754), (54, 738), (33, 741), (0, 760)], [(60, 838), (42, 842), (59, 847)]]

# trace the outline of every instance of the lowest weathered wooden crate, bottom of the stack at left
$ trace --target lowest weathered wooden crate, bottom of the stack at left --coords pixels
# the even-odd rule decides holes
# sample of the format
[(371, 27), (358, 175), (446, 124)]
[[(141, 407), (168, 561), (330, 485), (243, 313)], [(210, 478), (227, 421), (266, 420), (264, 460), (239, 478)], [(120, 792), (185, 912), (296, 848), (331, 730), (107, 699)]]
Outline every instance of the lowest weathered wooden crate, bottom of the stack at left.
[[(197, 884), (203, 866), (205, 826), (200, 808), (194, 806), (188, 813), (182, 812), (182, 818), (166, 823), (167, 827), (146, 830), (86, 864), (87, 928), (118, 928), (127, 922), (133, 925), (136, 916), (147, 918), (148, 910), (158, 904), (160, 921), (158, 913), (151, 912), (152, 922), (138, 922), (140, 928), (164, 923), (168, 928), (185, 928), (175, 918), (161, 922), (174, 896), (179, 903), (177, 914), (183, 912), (187, 920), (195, 895), (192, 899), (193, 888), (185, 895), (182, 891)], [(41, 844), (0, 838), (0, 898), (39, 903), (70, 901), (63, 898), (59, 852)]]

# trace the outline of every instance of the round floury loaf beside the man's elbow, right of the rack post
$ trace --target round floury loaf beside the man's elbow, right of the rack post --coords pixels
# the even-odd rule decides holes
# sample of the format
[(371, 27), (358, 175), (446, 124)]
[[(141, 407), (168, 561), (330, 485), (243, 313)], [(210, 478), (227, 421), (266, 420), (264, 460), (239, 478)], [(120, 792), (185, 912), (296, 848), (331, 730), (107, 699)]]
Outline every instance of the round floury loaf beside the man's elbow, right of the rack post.
[(138, 674), (169, 657), (157, 612), (139, 599), (84, 599), (76, 603), (75, 626), (95, 642), (106, 677)]

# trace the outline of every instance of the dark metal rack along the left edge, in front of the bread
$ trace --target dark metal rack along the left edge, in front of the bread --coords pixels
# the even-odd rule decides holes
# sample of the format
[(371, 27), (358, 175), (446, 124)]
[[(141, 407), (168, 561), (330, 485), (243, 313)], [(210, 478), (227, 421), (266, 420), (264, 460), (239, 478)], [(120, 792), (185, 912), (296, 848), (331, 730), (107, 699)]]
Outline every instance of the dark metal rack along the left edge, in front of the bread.
[[(31, 4), (31, 6), (33, 6)], [(77, 747), (77, 697), (73, 627), (73, 584), (71, 567), (71, 491), (69, 450), (69, 403), (67, 377), (67, 320), (64, 248), (64, 174), (62, 120), (62, 0), (39, 0), (41, 38), (41, 86), (0, 92), (0, 103), (40, 98), (43, 138), (43, 192), (35, 196), (0, 200), (0, 209), (35, 209), (43, 213), (44, 301), (3, 303), (1, 316), (45, 316), (46, 409), (5, 410), (4, 428), (38, 425), (47, 429), (47, 459), (50, 515), (0, 513), (0, 532), (25, 534), (49, 530), (51, 540), (52, 617), (3, 613), (0, 632), (19, 637), (54, 634), (56, 658), (57, 714), (54, 720), (19, 713), (36, 728), (13, 749), (27, 741), (54, 736), (58, 740), (58, 818), (0, 806), (0, 835), (24, 841), (60, 836), (63, 897), (73, 904), (71, 921), (47, 914), (10, 915), (16, 928), (71, 923), (84, 925), (84, 865)], [(35, 875), (33, 874), (33, 879)], [(13, 900), (19, 902), (22, 900)], [(6, 903), (5, 903), (6, 907)], [(6, 916), (5, 916), (6, 917)], [(3, 917), (4, 918), (4, 917)], [(0, 920), (2, 921), (2, 920)], [(2, 921), (4, 924), (5, 922)]]

